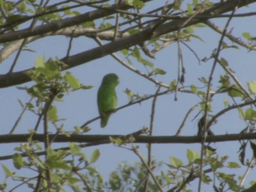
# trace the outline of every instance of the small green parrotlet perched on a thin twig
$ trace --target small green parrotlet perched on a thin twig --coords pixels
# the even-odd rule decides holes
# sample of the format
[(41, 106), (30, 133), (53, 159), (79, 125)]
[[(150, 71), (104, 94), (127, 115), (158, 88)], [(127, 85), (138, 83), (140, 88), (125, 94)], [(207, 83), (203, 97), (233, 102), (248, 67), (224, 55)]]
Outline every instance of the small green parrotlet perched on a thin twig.
[(100, 126), (108, 123), (108, 118), (115, 111), (117, 104), (116, 86), (119, 84), (118, 76), (114, 73), (106, 74), (98, 90), (98, 110), (100, 113)]

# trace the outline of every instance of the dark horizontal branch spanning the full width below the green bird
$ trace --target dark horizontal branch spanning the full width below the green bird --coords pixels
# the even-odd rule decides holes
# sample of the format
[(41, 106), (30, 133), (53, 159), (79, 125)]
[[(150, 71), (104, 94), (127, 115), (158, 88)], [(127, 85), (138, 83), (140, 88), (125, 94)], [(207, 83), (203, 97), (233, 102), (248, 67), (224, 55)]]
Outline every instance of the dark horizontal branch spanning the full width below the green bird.
[[(0, 143), (18, 143), (27, 142), (30, 134), (5, 134), (0, 135)], [(58, 135), (49, 134), (49, 139), (55, 137), (54, 142), (78, 142), (78, 143), (90, 143), (99, 142), (102, 140), (109, 140), (112, 138), (125, 139), (126, 135)], [(134, 136), (134, 143), (156, 143), (156, 144), (171, 144), (171, 143), (200, 143), (202, 140), (201, 136)], [(226, 142), (226, 141), (237, 141), (237, 140), (252, 140), (256, 139), (256, 133), (245, 133), (245, 134), (225, 134), (225, 135), (212, 135), (207, 136), (206, 143), (208, 142)], [(44, 134), (34, 134), (33, 140), (44, 142)]]

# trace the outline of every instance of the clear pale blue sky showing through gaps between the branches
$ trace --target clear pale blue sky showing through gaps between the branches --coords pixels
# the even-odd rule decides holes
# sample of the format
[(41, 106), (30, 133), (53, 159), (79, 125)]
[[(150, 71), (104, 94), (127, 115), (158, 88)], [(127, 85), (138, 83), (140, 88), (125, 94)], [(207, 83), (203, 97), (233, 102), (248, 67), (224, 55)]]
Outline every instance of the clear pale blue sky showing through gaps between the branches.
[[(54, 3), (56, 1), (52, 0), (50, 2)], [(142, 12), (153, 9), (153, 6), (154, 3), (149, 3), (147, 7), (142, 10)], [(251, 4), (248, 8), (240, 8), (236, 13), (252, 12), (254, 10), (256, 10), (255, 3)], [(80, 9), (81, 13), (85, 13), (87, 11), (88, 10)], [(227, 20), (228, 18), (219, 18), (212, 19), (211, 21), (223, 28)], [(242, 33), (250, 32), (252, 36), (256, 36), (256, 28), (253, 24), (254, 22), (255, 16), (233, 18), (228, 31), (233, 28), (232, 34), (246, 42), (246, 39), (242, 37)], [(220, 34), (217, 34), (208, 27), (197, 28), (195, 34), (200, 36), (204, 42), (192, 38), (191, 42), (187, 42), (188, 45), (196, 52), (200, 59), (209, 57), (212, 50), (218, 46)], [(68, 41), (69, 38), (64, 36), (51, 36), (30, 43), (28, 48), (35, 50), (36, 52), (22, 52), (22, 55), (18, 60), (18, 64), (15, 67), (15, 71), (33, 67), (34, 61), (38, 56), (44, 56), (46, 60), (48, 60), (49, 57), (55, 58), (55, 56), (58, 56), (58, 58), (63, 58), (66, 55)], [(228, 45), (233, 44), (227, 38), (225, 38), (224, 41)], [(74, 39), (70, 54), (76, 54), (97, 46), (98, 45), (96, 42), (94, 42), (94, 40), (81, 36)], [(255, 80), (255, 53), (253, 51), (248, 52), (246, 48), (241, 46), (238, 47), (239, 49), (223, 50), (220, 53), (220, 58), (223, 57), (228, 61), (229, 67), (236, 72), (236, 77), (240, 80), (244, 87), (247, 87), (246, 82)], [(188, 48), (186, 48), (184, 45), (181, 45), (181, 48), (184, 67), (186, 68), (184, 86), (195, 84), (198, 87), (202, 87), (203, 85), (198, 81), (197, 78), (204, 76), (206, 79), (208, 79), (213, 60), (201, 62), (199, 65), (198, 60), (194, 54), (188, 50)], [(121, 58), (124, 58), (120, 52), (117, 52), (116, 54)], [(14, 57), (15, 54), (10, 56), (8, 60), (4, 61), (0, 65), (1, 74), (8, 72)], [(146, 56), (144, 56), (144, 58), (146, 58)], [(165, 84), (170, 84), (172, 80), (177, 78), (178, 57), (176, 43), (171, 44), (164, 50), (158, 52), (156, 54), (156, 59), (147, 59), (154, 63), (155, 68), (161, 68), (167, 72), (164, 76), (156, 76), (156, 80), (162, 81)], [(136, 60), (132, 61), (134, 63), (134, 68), (146, 73), (146, 70), (142, 64), (138, 63)], [(68, 71), (72, 72), (72, 74), (76, 76), (82, 84), (91, 85), (94, 87), (91, 90), (78, 90), (76, 92), (70, 92), (69, 96), (64, 97), (64, 102), (54, 102), (54, 105), (58, 107), (59, 118), (66, 118), (66, 120), (63, 122), (64, 130), (74, 130), (74, 126), (82, 125), (88, 120), (98, 116), (96, 95), (98, 87), (102, 81), (102, 77), (105, 74), (114, 72), (120, 78), (120, 84), (116, 88), (118, 107), (129, 102), (128, 97), (123, 92), (126, 88), (129, 88), (132, 90), (132, 92), (138, 93), (141, 96), (154, 94), (156, 92), (156, 86), (152, 82), (130, 70), (127, 70), (111, 56), (105, 56), (92, 62), (82, 64), (76, 68), (69, 69)], [(216, 86), (219, 86), (218, 80), (220, 74), (224, 74), (224, 71), (220, 66), (217, 66), (213, 76), (214, 90), (217, 89)], [(32, 84), (32, 82), (29, 82), (20, 86), (31, 86)], [(161, 90), (165, 89), (162, 88)], [(202, 88), (202, 90), (206, 91), (206, 88)], [(211, 114), (216, 114), (218, 111), (224, 108), (224, 98), (227, 98), (230, 103), (232, 103), (226, 94), (214, 96)], [(0, 114), (2, 116), (2, 126), (0, 126), (0, 131), (2, 134), (7, 134), (10, 131), (14, 125), (14, 122), (22, 112), (18, 99), (20, 99), (23, 103), (26, 103), (30, 98), (25, 91), (18, 90), (15, 86), (1, 89), (0, 100), (2, 103)], [(174, 101), (174, 94), (159, 96), (156, 104), (153, 134), (163, 136), (174, 135), (178, 130), (186, 112), (198, 102), (200, 102), (200, 99), (197, 96), (181, 92), (178, 93), (177, 101)], [(236, 102), (242, 103), (242, 101), (237, 98)], [(152, 99), (144, 101), (141, 104), (135, 104), (129, 106), (128, 108), (119, 110), (110, 117), (109, 122), (104, 129), (100, 128), (100, 120), (92, 122), (89, 125), (89, 127), (92, 129), (90, 132), (88, 132), (88, 134), (129, 134), (142, 129), (143, 126), (149, 127), (151, 105)], [(246, 109), (246, 107), (244, 109)], [(194, 121), (192, 121), (192, 119), (197, 113), (198, 109), (191, 114), (187, 124), (181, 132), (181, 135), (196, 135), (199, 117)], [(27, 133), (28, 129), (34, 128), (36, 120), (37, 116), (31, 112), (26, 112), (15, 133)], [(240, 120), (237, 110), (231, 110), (218, 119), (218, 124), (212, 126), (212, 131), (215, 134), (239, 133), (245, 127), (246, 125), (242, 120)], [(42, 124), (38, 132), (42, 133)], [(54, 132), (54, 129), (52, 129), (52, 132)], [(212, 145), (217, 148), (217, 152), (220, 154), (220, 156), (228, 155), (230, 156), (230, 161), (239, 162), (237, 152), (240, 145), (238, 142), (220, 142)], [(19, 146), (19, 144), (2, 144), (1, 147), (4, 147), (6, 150), (1, 150), (0, 155), (13, 154), (14, 146)], [(54, 144), (53, 146), (57, 148), (64, 146), (64, 144)], [(139, 146), (140, 153), (146, 156), (146, 144), (140, 144)], [(92, 150), (96, 148), (100, 149), (101, 156), (94, 165), (105, 178), (108, 177), (108, 174), (114, 170), (121, 161), (127, 161), (128, 163), (139, 161), (139, 158), (134, 155), (133, 152), (115, 147), (113, 144), (84, 148), (83, 152), (90, 156)], [(200, 152), (201, 146), (200, 144), (154, 144), (152, 147), (152, 155), (153, 158), (158, 162), (164, 161), (169, 163), (169, 157), (175, 156), (182, 159), (186, 164), (188, 162), (186, 158), (187, 148)], [(249, 148), (246, 152), (246, 157), (249, 159), (252, 157), (252, 153)], [(1, 161), (0, 163), (12, 168), (12, 161), (10, 160)], [(162, 169), (166, 171), (168, 168), (163, 166)], [(242, 166), (239, 171), (234, 170), (233, 173), (242, 175), (244, 174), (245, 169), (246, 167)], [(0, 168), (0, 178), (4, 177), (3, 174), (4, 172)], [(250, 172), (248, 179), (245, 182), (247, 186), (248, 182), (250, 182), (252, 178), (256, 178), (255, 170)], [(2, 182), (2, 179), (0, 182)], [(194, 184), (195, 186), (192, 186), (192, 189), (195, 190), (197, 188), (197, 183)], [(203, 185), (203, 189), (206, 191), (207, 187), (207, 185)]]

